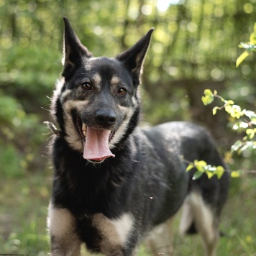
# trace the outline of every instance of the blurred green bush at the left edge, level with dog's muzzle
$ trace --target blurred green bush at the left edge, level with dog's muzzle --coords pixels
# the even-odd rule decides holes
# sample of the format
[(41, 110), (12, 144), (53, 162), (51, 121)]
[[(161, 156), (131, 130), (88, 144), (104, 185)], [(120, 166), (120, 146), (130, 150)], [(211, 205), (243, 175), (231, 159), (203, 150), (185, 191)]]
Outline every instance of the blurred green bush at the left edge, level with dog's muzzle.
[(35, 160), (35, 151), (42, 143), (42, 127), (35, 114), (28, 114), (17, 99), (0, 91), (0, 162), (1, 173), (18, 178), (29, 170)]

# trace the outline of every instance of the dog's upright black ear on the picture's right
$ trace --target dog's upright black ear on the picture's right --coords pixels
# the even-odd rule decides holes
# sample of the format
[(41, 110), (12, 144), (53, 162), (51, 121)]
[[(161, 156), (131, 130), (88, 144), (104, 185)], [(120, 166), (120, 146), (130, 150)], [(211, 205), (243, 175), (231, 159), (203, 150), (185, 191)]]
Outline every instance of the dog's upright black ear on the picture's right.
[(137, 83), (140, 83), (140, 74), (153, 31), (154, 28), (150, 29), (135, 45), (116, 56), (116, 59), (124, 63), (124, 66), (132, 73)]

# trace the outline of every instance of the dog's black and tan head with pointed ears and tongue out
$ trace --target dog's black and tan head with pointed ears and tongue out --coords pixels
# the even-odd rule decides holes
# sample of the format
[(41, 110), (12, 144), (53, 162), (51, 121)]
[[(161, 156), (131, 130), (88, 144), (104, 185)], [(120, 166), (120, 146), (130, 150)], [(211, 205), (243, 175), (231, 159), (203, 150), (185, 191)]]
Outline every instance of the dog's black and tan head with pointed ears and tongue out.
[(63, 79), (52, 97), (52, 114), (70, 147), (102, 162), (134, 125), (137, 87), (153, 29), (115, 58), (93, 58), (64, 18)]

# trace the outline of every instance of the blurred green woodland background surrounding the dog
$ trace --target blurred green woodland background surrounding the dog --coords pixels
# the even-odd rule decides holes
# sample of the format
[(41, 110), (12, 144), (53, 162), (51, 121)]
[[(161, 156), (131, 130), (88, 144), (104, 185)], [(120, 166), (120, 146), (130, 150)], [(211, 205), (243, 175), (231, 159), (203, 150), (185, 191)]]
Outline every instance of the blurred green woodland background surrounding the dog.
[[(113, 57), (155, 27), (142, 76), (143, 122), (201, 124), (233, 170), (255, 170), (254, 151), (230, 156), (243, 134), (232, 131), (225, 111), (213, 116), (217, 103), (204, 106), (201, 96), (215, 89), (255, 111), (256, 59), (239, 68), (235, 62), (239, 42), (253, 31), (256, 0), (0, 0), (0, 253), (49, 252), (52, 168), (42, 122), (51, 121), (50, 96), (62, 70), (63, 16), (95, 56)], [(232, 179), (219, 255), (256, 253), (255, 176)], [(197, 237), (175, 235), (174, 247), (176, 255), (203, 253)]]

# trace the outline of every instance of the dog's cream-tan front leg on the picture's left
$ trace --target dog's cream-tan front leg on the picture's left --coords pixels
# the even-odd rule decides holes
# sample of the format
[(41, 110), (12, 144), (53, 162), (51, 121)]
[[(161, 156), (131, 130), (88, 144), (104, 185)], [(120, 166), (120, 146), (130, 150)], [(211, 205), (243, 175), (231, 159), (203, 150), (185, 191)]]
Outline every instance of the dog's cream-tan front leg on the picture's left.
[(47, 219), (50, 232), (51, 256), (80, 255), (81, 240), (76, 234), (76, 221), (68, 209), (50, 203)]

